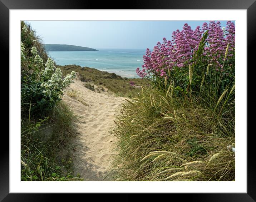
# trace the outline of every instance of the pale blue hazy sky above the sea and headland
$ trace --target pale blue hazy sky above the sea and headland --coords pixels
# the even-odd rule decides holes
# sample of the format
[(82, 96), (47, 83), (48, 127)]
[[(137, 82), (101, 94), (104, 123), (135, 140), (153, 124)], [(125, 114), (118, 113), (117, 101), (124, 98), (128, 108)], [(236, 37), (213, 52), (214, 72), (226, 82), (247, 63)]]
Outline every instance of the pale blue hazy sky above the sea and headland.
[[(68, 44), (94, 49), (152, 49), (185, 23), (195, 30), (209, 21), (27, 21), (44, 44)], [(227, 21), (220, 21), (226, 26)], [(232, 21), (235, 23), (235, 21)]]

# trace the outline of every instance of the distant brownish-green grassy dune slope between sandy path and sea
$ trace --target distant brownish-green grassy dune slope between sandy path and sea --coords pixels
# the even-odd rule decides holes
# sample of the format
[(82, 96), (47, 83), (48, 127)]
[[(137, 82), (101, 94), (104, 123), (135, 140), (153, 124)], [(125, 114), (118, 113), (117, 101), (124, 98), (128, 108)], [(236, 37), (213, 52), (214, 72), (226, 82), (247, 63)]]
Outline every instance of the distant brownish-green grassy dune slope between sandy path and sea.
[(134, 82), (136, 86), (146, 86), (149, 81), (142, 79), (128, 79), (123, 78), (114, 73), (109, 73), (106, 71), (99, 71), (97, 69), (89, 67), (81, 67), (78, 65), (65, 65), (58, 66), (63, 75), (67, 75), (70, 71), (79, 72), (81, 75), (81, 80), (84, 82), (92, 82), (97, 86), (104, 86), (117, 96), (122, 97), (136, 97), (138, 93), (141, 92), (141, 87), (131, 86), (130, 81)]

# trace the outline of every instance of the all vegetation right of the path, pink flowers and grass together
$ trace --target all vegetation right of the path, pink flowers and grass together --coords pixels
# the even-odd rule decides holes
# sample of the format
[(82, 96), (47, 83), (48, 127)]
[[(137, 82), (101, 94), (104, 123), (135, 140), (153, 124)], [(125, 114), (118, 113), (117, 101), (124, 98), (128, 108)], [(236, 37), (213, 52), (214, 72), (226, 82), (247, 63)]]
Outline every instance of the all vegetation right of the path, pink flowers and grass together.
[(137, 73), (153, 85), (115, 120), (115, 180), (235, 181), (235, 25), (202, 30), (147, 50)]

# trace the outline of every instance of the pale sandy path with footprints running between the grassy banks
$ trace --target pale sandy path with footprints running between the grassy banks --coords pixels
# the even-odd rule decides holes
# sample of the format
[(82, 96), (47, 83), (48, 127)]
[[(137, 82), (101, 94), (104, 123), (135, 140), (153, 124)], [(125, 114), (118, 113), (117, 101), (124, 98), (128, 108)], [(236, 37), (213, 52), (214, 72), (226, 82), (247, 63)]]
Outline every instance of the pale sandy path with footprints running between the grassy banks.
[(63, 100), (79, 117), (78, 137), (73, 140), (75, 175), (80, 174), (84, 181), (109, 181), (111, 149), (114, 147), (115, 136), (110, 134), (114, 125), (114, 113), (121, 108), (123, 98), (100, 94), (83, 86), (76, 79), (67, 89), (79, 92), (79, 96), (70, 97), (64, 92)]

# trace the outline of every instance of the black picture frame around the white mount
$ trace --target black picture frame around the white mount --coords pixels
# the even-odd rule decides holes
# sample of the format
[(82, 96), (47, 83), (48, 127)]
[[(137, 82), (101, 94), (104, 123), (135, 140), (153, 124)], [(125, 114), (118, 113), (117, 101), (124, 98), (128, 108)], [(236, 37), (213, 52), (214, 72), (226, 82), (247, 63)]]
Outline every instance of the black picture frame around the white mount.
[[(0, 44), (4, 50), (1, 54), (2, 59), (9, 58), (9, 10), (10, 9), (246, 9), (247, 10), (247, 66), (255, 67), (253, 54), (255, 53), (256, 36), (256, 0), (131, 0), (127, 4), (115, 1), (82, 1), (82, 0), (0, 0)], [(246, 67), (247, 68), (247, 67)], [(9, 73), (8, 73), (9, 74)], [(11, 75), (9, 75), (11, 76)], [(247, 77), (248, 81), (248, 77)], [(9, 83), (9, 82), (8, 82)], [(248, 84), (248, 83), (247, 83)], [(248, 86), (248, 85), (247, 85)], [(247, 92), (250, 92), (250, 86)], [(9, 91), (9, 89), (8, 89)], [(6, 89), (6, 95), (9, 95)], [(7, 96), (6, 96), (7, 97)], [(248, 100), (248, 99), (247, 99)], [(5, 105), (9, 103), (5, 99)], [(9, 105), (9, 108), (11, 106)], [(8, 116), (9, 117), (9, 116)], [(249, 119), (247, 119), (249, 120)], [(11, 120), (9, 120), (11, 121)], [(10, 123), (10, 122), (9, 122)], [(247, 123), (248, 125), (248, 123)], [(247, 129), (248, 130), (248, 129)], [(256, 201), (256, 163), (255, 163), (255, 141), (253, 141), (254, 133), (241, 134), (247, 136), (247, 193), (194, 193), (194, 194), (173, 194), (182, 200), (189, 201)], [(2, 133), (2, 145), (9, 142), (6, 133)], [(9, 146), (8, 146), (9, 147)], [(1, 147), (1, 166), (0, 166), (0, 201), (49, 201), (52, 195), (62, 200), (65, 197), (68, 200), (70, 195), (61, 194), (10, 194), (9, 193), (9, 149)], [(28, 191), (29, 192), (29, 191)], [(113, 190), (114, 192), (114, 190)], [(124, 200), (131, 199), (132, 195), (126, 194), (122, 197)], [(180, 196), (182, 195), (182, 196)], [(104, 196), (112, 197), (112, 196)], [(169, 196), (168, 196), (169, 197)], [(105, 199), (107, 199), (105, 198)], [(88, 200), (88, 199), (85, 199)], [(113, 200), (113, 199), (112, 199)], [(116, 198), (118, 200), (118, 198)], [(120, 198), (119, 198), (120, 200)], [(171, 200), (171, 198), (169, 198)], [(115, 201), (115, 200), (114, 200)], [(123, 201), (123, 200), (122, 200)], [(129, 200), (130, 201), (130, 200)]]

